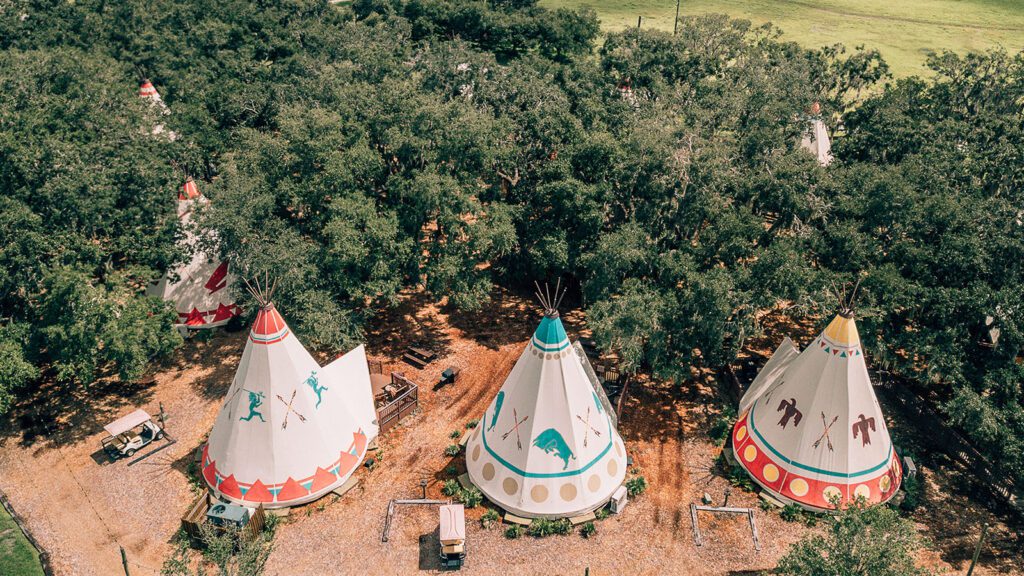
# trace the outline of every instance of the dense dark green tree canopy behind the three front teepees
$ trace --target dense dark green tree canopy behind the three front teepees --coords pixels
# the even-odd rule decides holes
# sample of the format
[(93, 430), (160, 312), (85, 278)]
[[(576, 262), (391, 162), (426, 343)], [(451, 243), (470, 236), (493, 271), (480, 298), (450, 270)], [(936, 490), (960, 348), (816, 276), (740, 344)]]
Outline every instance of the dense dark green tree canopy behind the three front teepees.
[[(599, 343), (681, 378), (861, 277), (873, 362), (1024, 478), (1024, 60), (932, 67), (883, 85), (877, 52), (724, 16), (599, 39), (531, 0), (5, 3), (0, 409), (178, 343), (142, 288), (187, 257), (184, 171), (209, 248), (324, 347), (403, 289), (473, 310), (563, 277)], [(798, 146), (815, 100), (845, 127), (827, 169)]]

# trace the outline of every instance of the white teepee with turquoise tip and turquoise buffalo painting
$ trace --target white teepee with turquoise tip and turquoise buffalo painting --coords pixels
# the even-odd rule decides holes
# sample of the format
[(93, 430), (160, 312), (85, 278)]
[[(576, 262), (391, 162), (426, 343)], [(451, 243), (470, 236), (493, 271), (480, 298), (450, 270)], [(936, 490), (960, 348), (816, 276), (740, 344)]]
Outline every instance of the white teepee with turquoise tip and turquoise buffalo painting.
[(552, 303), (466, 445), (472, 483), (526, 518), (594, 510), (626, 477), (623, 440)]

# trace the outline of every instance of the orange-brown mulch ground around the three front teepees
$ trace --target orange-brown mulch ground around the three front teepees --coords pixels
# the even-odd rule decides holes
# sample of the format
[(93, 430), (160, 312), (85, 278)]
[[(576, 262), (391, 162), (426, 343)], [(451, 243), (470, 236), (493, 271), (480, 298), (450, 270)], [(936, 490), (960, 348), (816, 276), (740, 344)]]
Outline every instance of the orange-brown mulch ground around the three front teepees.
[[(399, 507), (389, 541), (382, 543), (388, 501), (419, 497), (421, 480), (428, 482), (428, 498), (443, 498), (443, 482), (464, 470), (460, 457), (443, 454), (456, 442), (450, 434), (480, 417), (539, 319), (531, 300), (499, 291), (480, 314), (458, 314), (409, 294), (375, 322), (367, 334), (371, 357), (420, 384), (420, 410), (380, 439), (381, 463), (357, 472), (357, 488), (344, 498), (329, 496), (291, 512), (279, 529), (266, 574), (437, 571), (436, 508)], [(570, 337), (585, 333), (582, 314), (568, 313), (563, 320)], [(771, 334), (800, 327), (768, 328)], [(769, 335), (759, 346), (770, 354), (770, 342), (777, 340)], [(50, 551), (58, 574), (121, 574), (119, 546), (127, 551), (133, 576), (159, 573), (179, 518), (196, 494), (189, 474), (195, 449), (212, 426), (244, 343), (244, 333), (190, 341), (140, 386), (106, 381), (90, 390), (44, 388), (32, 404), (37, 409), (20, 411), (0, 428), (0, 488)], [(429, 345), (438, 359), (422, 371), (399, 363), (404, 346), (413, 343)], [(436, 387), (449, 366), (462, 368), (459, 382)], [(754, 550), (743, 517), (701, 513), (705, 545), (693, 542), (689, 504), (705, 493), (721, 503), (728, 486), (714, 466), (720, 449), (708, 437), (715, 407), (722, 405), (719, 389), (710, 373), (695, 373), (682, 384), (636, 380), (620, 429), (635, 474), (649, 483), (647, 493), (624, 513), (598, 522), (590, 539), (573, 533), (508, 540), (501, 528), (480, 527), (483, 508), (467, 510), (463, 572), (582, 574), (589, 568), (595, 575), (744, 574), (773, 567), (790, 544), (819, 529), (782, 522), (777, 512), (761, 510), (750, 493), (732, 490), (729, 504), (755, 508), (762, 551)], [(102, 425), (133, 407), (156, 413), (160, 403), (177, 442), (132, 465), (105, 462), (98, 453)], [(944, 470), (926, 465), (923, 474), (929, 480), (926, 503), (913, 520), (933, 539), (924, 561), (963, 571), (972, 551), (972, 525), (991, 522), (993, 545), (975, 573), (1024, 572), (1014, 551), (1020, 537), (1012, 526), (966, 499)]]

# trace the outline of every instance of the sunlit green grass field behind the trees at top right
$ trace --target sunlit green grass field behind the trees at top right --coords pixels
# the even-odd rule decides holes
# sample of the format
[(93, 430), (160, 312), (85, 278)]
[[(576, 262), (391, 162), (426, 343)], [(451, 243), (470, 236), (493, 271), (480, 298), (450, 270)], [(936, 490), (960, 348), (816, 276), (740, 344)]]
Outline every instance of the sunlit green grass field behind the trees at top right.
[[(605, 30), (672, 30), (675, 0), (541, 0), (548, 7), (589, 6)], [(1024, 49), (1024, 0), (682, 0), (680, 13), (725, 13), (771, 22), (806, 46), (841, 42), (879, 49), (896, 76), (926, 75), (928, 50)]]

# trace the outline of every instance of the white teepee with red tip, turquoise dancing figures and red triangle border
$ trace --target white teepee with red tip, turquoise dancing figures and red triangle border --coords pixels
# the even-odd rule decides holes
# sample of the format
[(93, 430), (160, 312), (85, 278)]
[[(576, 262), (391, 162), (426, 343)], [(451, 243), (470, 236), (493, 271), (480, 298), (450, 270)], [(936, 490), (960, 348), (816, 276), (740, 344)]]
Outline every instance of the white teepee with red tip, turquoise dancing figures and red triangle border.
[(203, 449), (207, 486), (267, 508), (324, 496), (348, 480), (377, 437), (371, 395), (361, 345), (322, 368), (264, 303)]

